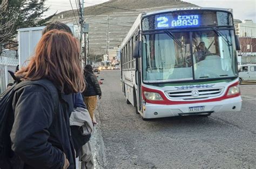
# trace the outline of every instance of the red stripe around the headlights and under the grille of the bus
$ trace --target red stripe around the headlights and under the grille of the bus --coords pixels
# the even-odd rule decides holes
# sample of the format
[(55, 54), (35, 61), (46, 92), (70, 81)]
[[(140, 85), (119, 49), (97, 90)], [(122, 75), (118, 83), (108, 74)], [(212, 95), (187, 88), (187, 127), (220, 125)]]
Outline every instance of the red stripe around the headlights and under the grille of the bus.
[[(160, 90), (156, 90), (156, 89), (150, 89), (147, 88), (145, 86), (142, 86), (142, 95), (143, 95), (143, 99), (146, 100), (146, 103), (151, 103), (151, 104), (162, 104), (162, 105), (176, 105), (176, 104), (192, 104), (192, 103), (208, 103), (208, 102), (218, 102), (224, 99), (230, 99), (230, 98), (234, 98), (234, 97), (238, 97), (241, 95), (241, 93), (237, 93), (237, 94), (232, 94), (232, 95), (227, 95), (228, 90), (230, 89), (230, 87), (233, 86), (237, 86), (239, 83), (236, 82), (230, 86), (228, 86), (226, 93), (224, 94), (224, 96), (218, 97), (218, 98), (214, 98), (214, 99), (206, 99), (206, 100), (197, 100), (197, 101), (173, 101), (173, 100), (169, 100), (166, 98), (165, 94), (160, 91)], [(159, 93), (160, 96), (163, 98), (163, 100), (148, 100), (146, 99), (146, 97), (144, 96), (144, 91), (146, 92), (155, 92), (155, 93)]]

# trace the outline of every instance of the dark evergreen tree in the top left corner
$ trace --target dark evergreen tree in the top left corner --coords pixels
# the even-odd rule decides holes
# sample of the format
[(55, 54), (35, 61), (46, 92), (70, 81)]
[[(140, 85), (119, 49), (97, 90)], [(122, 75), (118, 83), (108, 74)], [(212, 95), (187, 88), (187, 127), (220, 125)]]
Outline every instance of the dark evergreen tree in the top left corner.
[(49, 10), (43, 1), (0, 0), (0, 4), (0, 44), (14, 38), (19, 28), (42, 26), (55, 16), (42, 19), (43, 13)]

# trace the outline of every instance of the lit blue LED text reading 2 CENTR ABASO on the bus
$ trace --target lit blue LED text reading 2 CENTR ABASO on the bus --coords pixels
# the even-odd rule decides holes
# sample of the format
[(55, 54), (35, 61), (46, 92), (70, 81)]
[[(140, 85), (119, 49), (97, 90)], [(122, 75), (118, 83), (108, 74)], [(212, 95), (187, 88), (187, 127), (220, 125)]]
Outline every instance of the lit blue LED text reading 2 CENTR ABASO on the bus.
[(199, 15), (179, 15), (176, 19), (171, 19), (168, 16), (157, 17), (157, 28), (176, 28), (176, 27), (188, 27), (199, 26)]

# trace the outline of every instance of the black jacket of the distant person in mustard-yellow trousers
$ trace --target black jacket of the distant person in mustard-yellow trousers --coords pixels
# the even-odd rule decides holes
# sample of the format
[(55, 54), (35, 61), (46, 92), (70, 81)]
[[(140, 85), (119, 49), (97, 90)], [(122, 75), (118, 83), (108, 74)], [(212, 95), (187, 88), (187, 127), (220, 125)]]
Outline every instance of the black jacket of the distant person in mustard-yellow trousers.
[(84, 96), (102, 96), (102, 91), (100, 90), (99, 82), (97, 77), (91, 73), (85, 73), (85, 80), (87, 83), (86, 90), (83, 92)]

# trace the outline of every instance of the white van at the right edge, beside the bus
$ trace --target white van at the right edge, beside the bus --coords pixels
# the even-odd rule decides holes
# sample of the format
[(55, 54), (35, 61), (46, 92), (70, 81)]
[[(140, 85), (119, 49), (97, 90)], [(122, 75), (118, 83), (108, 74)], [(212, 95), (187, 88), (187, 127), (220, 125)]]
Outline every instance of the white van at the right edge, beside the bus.
[(238, 72), (240, 84), (242, 82), (256, 81), (256, 64), (241, 65)]

